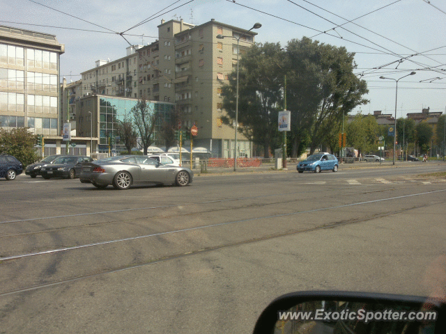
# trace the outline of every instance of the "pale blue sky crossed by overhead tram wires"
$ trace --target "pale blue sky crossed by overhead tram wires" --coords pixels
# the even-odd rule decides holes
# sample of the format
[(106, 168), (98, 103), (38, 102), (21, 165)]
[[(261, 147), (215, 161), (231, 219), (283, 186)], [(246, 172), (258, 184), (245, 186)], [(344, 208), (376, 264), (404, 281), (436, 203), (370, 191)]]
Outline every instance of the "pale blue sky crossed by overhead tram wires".
[(260, 43), (286, 46), (305, 36), (346, 47), (355, 53), (354, 73), (367, 81), (364, 98), (370, 101), (351, 114), (394, 115), (391, 79), (411, 72), (416, 74), (398, 83), (397, 118), (428, 107), (446, 110), (444, 0), (2, 0), (0, 24), (56, 35), (66, 48), (61, 76), (70, 82), (99, 59), (125, 56), (128, 42), (154, 42), (161, 19), (181, 18), (197, 25), (215, 19), (243, 29), (259, 22)]

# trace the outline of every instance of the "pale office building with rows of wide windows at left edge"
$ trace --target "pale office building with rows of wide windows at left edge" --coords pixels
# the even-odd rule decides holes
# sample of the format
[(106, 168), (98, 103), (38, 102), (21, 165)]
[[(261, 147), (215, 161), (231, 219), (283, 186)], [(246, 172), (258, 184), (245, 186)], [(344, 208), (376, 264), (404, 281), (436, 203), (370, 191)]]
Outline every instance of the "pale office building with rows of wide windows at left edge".
[(65, 46), (55, 35), (0, 26), (0, 126), (29, 127), (56, 141), (59, 59)]

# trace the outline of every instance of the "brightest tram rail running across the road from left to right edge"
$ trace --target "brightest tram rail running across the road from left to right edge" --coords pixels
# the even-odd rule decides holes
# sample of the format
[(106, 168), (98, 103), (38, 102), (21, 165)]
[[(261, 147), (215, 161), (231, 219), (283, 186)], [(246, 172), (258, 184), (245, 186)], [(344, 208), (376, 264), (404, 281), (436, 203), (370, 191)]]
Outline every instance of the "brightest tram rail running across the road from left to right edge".
[(409, 198), (409, 197), (413, 197), (413, 196), (429, 195), (431, 193), (440, 193), (440, 192), (444, 192), (444, 191), (446, 191), (446, 189), (440, 189), (440, 190), (434, 190), (434, 191), (426, 191), (426, 192), (423, 192), (423, 193), (412, 193), (410, 195), (396, 196), (396, 197), (390, 197), (390, 198), (381, 198), (379, 200), (367, 200), (365, 202), (355, 202), (355, 203), (351, 203), (351, 204), (336, 205), (334, 207), (322, 207), (320, 209), (312, 209), (312, 210), (298, 211), (298, 212), (289, 212), (287, 214), (275, 214), (275, 215), (272, 215), (272, 216), (261, 216), (261, 217), (255, 217), (255, 218), (247, 218), (247, 219), (242, 219), (240, 221), (226, 221), (225, 223), (203, 225), (203, 226), (197, 226), (195, 228), (183, 228), (181, 230), (173, 230), (173, 231), (167, 231), (167, 232), (158, 232), (158, 233), (153, 233), (153, 234), (139, 235), (137, 237), (128, 237), (128, 238), (124, 238), (124, 239), (100, 241), (100, 242), (95, 242), (93, 244), (84, 244), (84, 245), (79, 245), (79, 246), (63, 247), (63, 248), (57, 248), (57, 249), (52, 249), (52, 250), (44, 250), (42, 252), (36, 252), (36, 253), (26, 253), (26, 254), (21, 254), (21, 255), (0, 257), (0, 261), (16, 260), (16, 259), (21, 259), (21, 258), (24, 258), (24, 257), (31, 257), (31, 256), (36, 256), (36, 255), (54, 254), (54, 253), (64, 252), (64, 251), (67, 251), (67, 250), (88, 248), (88, 247), (92, 247), (92, 246), (116, 244), (117, 242), (133, 241), (133, 240), (144, 239), (144, 238), (148, 238), (148, 237), (159, 237), (161, 235), (168, 235), (168, 234), (174, 234), (174, 233), (179, 233), (179, 232), (188, 232), (188, 231), (194, 231), (194, 230), (201, 230), (203, 228), (215, 228), (217, 226), (224, 226), (224, 225), (229, 225), (229, 224), (234, 224), (234, 223), (246, 223), (247, 221), (259, 221), (260, 219), (281, 218), (281, 217), (286, 217), (286, 216), (295, 216), (296, 214), (309, 214), (309, 213), (312, 213), (312, 212), (321, 212), (321, 211), (327, 211), (327, 210), (332, 210), (332, 209), (341, 209), (341, 208), (344, 208), (344, 207), (354, 207), (356, 205), (367, 205), (367, 204), (371, 204), (371, 203), (383, 202), (383, 201), (386, 201), (386, 200), (399, 200), (401, 198)]

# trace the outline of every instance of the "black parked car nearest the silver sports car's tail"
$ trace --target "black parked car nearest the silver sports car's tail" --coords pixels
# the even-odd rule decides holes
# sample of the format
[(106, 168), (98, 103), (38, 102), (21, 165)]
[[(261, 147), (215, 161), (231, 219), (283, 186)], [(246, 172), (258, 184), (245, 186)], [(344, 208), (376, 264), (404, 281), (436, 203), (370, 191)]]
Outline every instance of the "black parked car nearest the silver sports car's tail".
[(40, 168), (40, 175), (42, 175), (45, 180), (48, 180), (50, 177), (74, 179), (75, 177), (79, 177), (82, 173), (82, 164), (91, 161), (93, 161), (91, 157), (66, 155), (57, 158), (52, 164), (43, 165), (42, 168)]

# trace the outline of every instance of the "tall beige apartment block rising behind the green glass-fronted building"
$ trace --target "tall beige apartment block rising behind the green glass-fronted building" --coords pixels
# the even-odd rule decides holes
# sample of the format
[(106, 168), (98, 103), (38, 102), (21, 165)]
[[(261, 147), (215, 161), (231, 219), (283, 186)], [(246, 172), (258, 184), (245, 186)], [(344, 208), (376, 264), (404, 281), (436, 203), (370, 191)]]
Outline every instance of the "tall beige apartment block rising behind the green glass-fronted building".
[[(223, 40), (217, 35), (224, 35)], [(128, 47), (127, 56), (98, 61), (82, 72), (82, 92), (175, 103), (182, 111), (183, 129), (198, 127), (194, 146), (214, 157), (232, 158), (234, 127), (224, 125), (222, 86), (235, 70), (256, 33), (211, 19), (200, 25), (183, 19), (162, 20), (158, 40)], [(237, 47), (239, 39), (240, 49)], [(251, 156), (252, 143), (238, 134), (238, 156)]]

